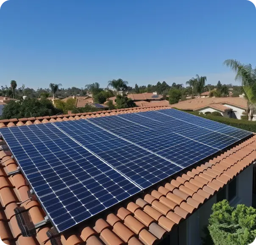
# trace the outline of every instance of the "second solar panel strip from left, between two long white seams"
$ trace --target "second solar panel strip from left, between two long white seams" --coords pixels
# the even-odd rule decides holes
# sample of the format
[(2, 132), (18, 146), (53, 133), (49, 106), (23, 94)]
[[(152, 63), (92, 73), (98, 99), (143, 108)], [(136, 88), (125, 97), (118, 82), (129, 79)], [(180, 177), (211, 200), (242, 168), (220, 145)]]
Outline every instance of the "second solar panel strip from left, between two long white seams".
[(55, 123), (79, 144), (97, 154), (139, 187), (145, 189), (183, 168), (136, 146), (87, 120)]

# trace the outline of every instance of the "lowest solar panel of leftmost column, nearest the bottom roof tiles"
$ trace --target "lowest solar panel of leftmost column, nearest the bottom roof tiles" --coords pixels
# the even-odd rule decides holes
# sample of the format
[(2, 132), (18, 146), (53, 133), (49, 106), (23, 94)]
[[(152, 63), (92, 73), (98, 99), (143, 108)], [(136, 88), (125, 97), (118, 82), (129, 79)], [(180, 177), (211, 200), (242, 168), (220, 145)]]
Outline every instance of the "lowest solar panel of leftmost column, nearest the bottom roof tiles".
[(111, 169), (108, 173), (43, 196), (41, 203), (52, 214), (50, 217), (61, 232), (64, 227), (70, 228), (67, 225), (75, 226), (141, 191), (139, 188), (134, 190), (134, 186)]

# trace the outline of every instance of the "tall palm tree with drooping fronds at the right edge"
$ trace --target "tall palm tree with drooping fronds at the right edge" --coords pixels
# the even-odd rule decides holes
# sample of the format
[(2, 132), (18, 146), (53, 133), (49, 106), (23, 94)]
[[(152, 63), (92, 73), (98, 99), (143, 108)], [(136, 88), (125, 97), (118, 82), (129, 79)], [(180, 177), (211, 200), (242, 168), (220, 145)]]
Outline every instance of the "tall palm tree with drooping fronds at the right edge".
[(253, 117), (256, 112), (256, 68), (252, 68), (251, 64), (243, 64), (239, 60), (228, 59), (223, 62), (232, 71), (236, 72), (236, 81), (242, 83), (242, 88), (247, 100), (248, 120)]

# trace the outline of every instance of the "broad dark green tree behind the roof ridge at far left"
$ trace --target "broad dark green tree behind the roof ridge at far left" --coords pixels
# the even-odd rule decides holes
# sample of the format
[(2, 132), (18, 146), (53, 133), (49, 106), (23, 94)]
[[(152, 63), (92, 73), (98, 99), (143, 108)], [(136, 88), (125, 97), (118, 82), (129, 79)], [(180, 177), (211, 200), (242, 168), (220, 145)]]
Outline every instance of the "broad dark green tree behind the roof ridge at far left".
[(3, 108), (1, 119), (24, 118), (24, 117), (44, 117), (62, 113), (60, 109), (53, 106), (53, 103), (42, 98), (28, 98), (25, 101), (10, 101)]

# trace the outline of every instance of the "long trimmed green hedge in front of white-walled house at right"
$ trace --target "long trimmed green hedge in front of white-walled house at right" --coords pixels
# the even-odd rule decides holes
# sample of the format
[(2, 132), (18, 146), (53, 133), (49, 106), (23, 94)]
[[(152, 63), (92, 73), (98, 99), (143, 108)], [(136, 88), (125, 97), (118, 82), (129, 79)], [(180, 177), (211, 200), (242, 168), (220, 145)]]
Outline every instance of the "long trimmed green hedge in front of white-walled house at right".
[(235, 128), (241, 128), (243, 130), (256, 133), (256, 122), (254, 121), (239, 120), (239, 119), (228, 118), (228, 117), (219, 117), (219, 116), (213, 116), (211, 114), (205, 115), (202, 113), (199, 114), (199, 112), (191, 112), (191, 111), (184, 111), (184, 110), (179, 110), (179, 111), (187, 112), (187, 113), (196, 115), (198, 117), (203, 117), (218, 123), (224, 123), (226, 125), (229, 125)]

